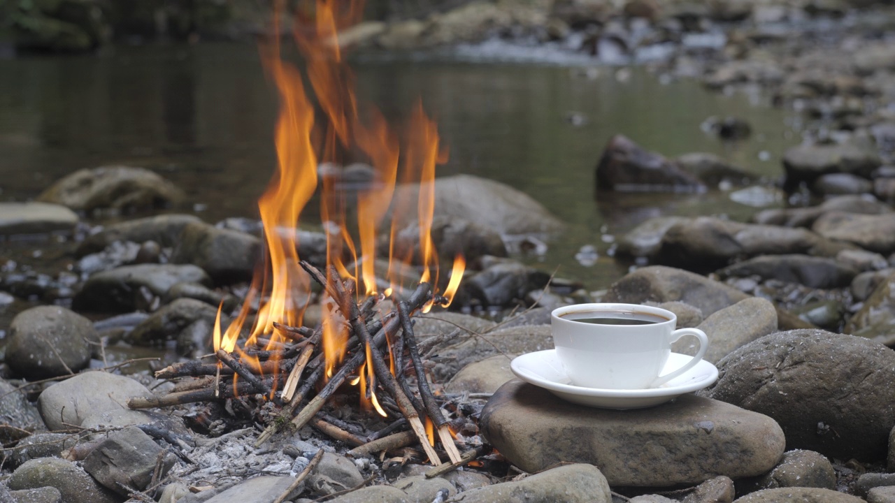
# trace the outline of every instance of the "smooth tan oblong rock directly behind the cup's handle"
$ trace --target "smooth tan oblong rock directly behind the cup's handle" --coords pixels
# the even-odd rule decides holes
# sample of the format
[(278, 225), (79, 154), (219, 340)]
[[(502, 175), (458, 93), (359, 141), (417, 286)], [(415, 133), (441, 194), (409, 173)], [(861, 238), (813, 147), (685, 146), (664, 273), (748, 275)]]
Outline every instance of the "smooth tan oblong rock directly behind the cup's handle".
[[(715, 311), (698, 328), (709, 337), (703, 359), (714, 363), (737, 347), (776, 331), (777, 310), (770, 301), (752, 297)], [(681, 354), (696, 354), (698, 349), (699, 343), (692, 337), (681, 338), (671, 346), (671, 351)]]

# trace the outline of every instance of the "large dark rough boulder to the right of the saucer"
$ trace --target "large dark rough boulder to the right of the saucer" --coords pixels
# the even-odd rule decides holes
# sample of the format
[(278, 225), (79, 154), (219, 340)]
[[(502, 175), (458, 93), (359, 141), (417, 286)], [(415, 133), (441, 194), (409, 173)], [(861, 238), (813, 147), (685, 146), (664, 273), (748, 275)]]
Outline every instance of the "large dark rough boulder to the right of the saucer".
[(873, 461), (886, 456), (895, 425), (895, 352), (861, 337), (819, 329), (762, 337), (718, 362), (699, 392), (771, 416), (788, 448)]

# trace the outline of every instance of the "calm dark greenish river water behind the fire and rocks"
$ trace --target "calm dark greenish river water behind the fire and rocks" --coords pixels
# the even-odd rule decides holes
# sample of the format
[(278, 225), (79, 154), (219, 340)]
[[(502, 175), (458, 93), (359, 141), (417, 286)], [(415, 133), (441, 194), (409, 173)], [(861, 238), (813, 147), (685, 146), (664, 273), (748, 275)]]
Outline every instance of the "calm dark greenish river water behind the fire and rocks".
[[(602, 67), (588, 77), (580, 66), (397, 58), (360, 59), (354, 70), (362, 98), (398, 122), (422, 96), (450, 149), (439, 175), (508, 183), (566, 220), (569, 231), (546, 255), (525, 260), (591, 289), (623, 274), (606, 251), (614, 234), (646, 217), (754, 212), (725, 192), (595, 199), (593, 169), (611, 135), (669, 157), (714, 152), (771, 178), (797, 142), (780, 110), (695, 81), (662, 83), (643, 69)], [(181, 185), (193, 204), (187, 210), (208, 221), (254, 217), (276, 162), (276, 109), (254, 47), (118, 47), (0, 61), (0, 200), (33, 198), (82, 167), (126, 164)], [(570, 124), (572, 112), (587, 124)], [(710, 115), (745, 118), (755, 133), (722, 143), (700, 127)], [(575, 259), (588, 244), (599, 253), (593, 265)]]

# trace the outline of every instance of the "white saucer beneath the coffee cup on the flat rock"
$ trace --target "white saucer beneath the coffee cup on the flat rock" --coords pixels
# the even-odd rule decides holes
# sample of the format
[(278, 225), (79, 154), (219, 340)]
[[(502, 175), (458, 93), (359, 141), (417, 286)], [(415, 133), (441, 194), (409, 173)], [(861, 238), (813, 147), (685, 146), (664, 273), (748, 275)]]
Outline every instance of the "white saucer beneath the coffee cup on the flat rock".
[[(672, 353), (662, 373), (683, 366), (692, 356)], [(571, 384), (555, 349), (517, 356), (510, 363), (516, 377), (575, 404), (607, 409), (637, 409), (659, 405), (678, 396), (705, 388), (718, 379), (718, 369), (710, 362), (698, 362), (689, 371), (669, 380), (659, 388), (599, 389)]]

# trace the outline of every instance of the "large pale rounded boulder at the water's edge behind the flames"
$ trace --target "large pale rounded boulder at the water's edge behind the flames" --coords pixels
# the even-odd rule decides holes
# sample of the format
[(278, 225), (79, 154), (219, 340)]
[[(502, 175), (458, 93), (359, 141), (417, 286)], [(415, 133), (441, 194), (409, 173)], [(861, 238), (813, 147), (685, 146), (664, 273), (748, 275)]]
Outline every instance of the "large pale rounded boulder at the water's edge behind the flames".
[[(435, 212), (442, 217), (463, 218), (500, 234), (555, 233), (565, 227), (541, 203), (504, 183), (455, 175), (436, 178), (434, 188)], [(418, 183), (400, 185), (392, 200), (416, 201), (419, 191)], [(402, 228), (409, 219), (402, 220)]]

